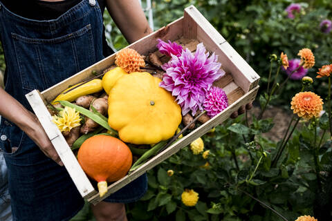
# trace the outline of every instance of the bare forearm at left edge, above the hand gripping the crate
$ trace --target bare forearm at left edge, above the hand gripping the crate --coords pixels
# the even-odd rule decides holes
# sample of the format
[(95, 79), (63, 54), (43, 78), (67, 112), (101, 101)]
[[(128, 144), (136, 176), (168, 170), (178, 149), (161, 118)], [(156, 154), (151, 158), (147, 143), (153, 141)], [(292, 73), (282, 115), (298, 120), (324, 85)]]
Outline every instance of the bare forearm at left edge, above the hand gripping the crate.
[(0, 105), (0, 115), (19, 126), (23, 131), (30, 130), (36, 124), (37, 119), (35, 115), (30, 113), (2, 88), (0, 88), (0, 100), (2, 104), (6, 104)]

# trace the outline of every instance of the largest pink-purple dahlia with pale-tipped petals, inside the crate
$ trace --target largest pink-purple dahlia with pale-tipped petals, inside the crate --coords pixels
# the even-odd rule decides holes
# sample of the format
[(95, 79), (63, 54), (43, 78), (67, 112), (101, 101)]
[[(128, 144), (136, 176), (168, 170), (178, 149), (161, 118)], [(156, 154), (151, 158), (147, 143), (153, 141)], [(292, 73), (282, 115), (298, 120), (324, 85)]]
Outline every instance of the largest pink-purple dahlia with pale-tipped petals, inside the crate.
[(212, 83), (225, 74), (214, 53), (209, 57), (203, 44), (197, 45), (196, 52), (186, 49), (181, 56), (172, 54), (172, 59), (163, 66), (166, 71), (160, 87), (172, 92), (185, 115), (192, 111), (203, 111), (203, 102)]

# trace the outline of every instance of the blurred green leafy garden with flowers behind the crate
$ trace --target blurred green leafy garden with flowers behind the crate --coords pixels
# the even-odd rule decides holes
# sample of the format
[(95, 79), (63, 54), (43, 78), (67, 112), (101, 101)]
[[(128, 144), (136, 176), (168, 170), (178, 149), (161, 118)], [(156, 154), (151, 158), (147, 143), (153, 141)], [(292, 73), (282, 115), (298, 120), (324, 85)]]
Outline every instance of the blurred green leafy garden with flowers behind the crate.
[[(201, 137), (203, 146), (187, 146), (149, 171), (149, 189), (127, 204), (128, 219), (332, 220), (331, 79), (329, 71), (316, 78), (319, 68), (331, 64), (331, 1), (158, 0), (151, 5), (154, 30), (183, 16), (190, 5), (260, 75), (259, 94), (252, 110)], [(113, 47), (127, 46), (107, 12), (104, 19)], [(310, 68), (297, 55), (302, 48), (313, 52)], [(303, 83), (304, 76), (313, 83)], [(323, 110), (314, 110), (319, 115), (293, 115), (291, 100), (300, 91), (320, 96)], [(89, 219), (86, 206), (73, 220)]]

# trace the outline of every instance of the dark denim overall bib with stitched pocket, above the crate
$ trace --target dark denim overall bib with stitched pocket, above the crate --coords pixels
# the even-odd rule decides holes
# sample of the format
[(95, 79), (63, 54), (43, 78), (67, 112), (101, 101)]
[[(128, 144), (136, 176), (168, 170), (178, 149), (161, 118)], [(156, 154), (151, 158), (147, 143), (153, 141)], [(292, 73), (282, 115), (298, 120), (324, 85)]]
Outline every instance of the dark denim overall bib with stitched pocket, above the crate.
[(6, 91), (26, 108), (26, 93), (45, 90), (103, 58), (102, 15), (95, 0), (83, 0), (48, 21), (26, 19), (0, 6)]

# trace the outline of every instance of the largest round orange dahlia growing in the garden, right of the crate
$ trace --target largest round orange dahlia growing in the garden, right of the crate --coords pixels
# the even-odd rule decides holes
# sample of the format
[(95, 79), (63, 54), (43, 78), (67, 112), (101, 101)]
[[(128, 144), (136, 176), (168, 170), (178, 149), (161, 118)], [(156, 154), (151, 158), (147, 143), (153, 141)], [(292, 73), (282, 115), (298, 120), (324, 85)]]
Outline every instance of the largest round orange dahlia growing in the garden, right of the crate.
[(311, 91), (297, 93), (292, 98), (291, 109), (304, 119), (318, 117), (323, 109), (322, 98)]

